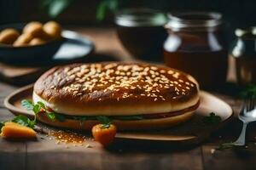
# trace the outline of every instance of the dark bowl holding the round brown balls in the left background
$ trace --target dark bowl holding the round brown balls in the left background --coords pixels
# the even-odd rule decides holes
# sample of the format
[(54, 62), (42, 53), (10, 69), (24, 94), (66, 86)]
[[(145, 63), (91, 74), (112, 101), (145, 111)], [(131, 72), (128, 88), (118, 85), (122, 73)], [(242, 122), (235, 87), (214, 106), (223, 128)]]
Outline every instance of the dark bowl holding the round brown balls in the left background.
[[(0, 26), (0, 31), (5, 28), (15, 28), (21, 31), (25, 24), (13, 24)], [(10, 45), (0, 45), (0, 61), (8, 64), (28, 64), (47, 62), (52, 59), (57, 50), (61, 47), (61, 44), (65, 42), (65, 38), (61, 38), (55, 41), (46, 42), (40, 45), (13, 47)]]

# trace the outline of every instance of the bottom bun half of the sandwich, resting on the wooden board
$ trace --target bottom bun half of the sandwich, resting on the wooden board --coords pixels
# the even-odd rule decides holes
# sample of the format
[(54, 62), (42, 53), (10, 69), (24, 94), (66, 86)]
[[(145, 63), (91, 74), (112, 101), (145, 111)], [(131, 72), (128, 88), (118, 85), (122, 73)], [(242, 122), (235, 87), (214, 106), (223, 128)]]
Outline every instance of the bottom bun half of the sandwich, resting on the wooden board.
[[(119, 121), (113, 120), (113, 124), (119, 130), (142, 130), (142, 129), (157, 129), (157, 128), (166, 128), (173, 127), (182, 122), (188, 121), (191, 116), (193, 116), (195, 111), (189, 111), (182, 115), (171, 116), (166, 118), (159, 119), (145, 119), (137, 121)], [(99, 122), (94, 120), (87, 120), (84, 123), (81, 123), (79, 120), (67, 119), (65, 122), (59, 122), (57, 120), (50, 121), (45, 114), (37, 115), (38, 121), (44, 122), (54, 127), (65, 127), (70, 129), (79, 129), (79, 130), (90, 130), (94, 125)]]

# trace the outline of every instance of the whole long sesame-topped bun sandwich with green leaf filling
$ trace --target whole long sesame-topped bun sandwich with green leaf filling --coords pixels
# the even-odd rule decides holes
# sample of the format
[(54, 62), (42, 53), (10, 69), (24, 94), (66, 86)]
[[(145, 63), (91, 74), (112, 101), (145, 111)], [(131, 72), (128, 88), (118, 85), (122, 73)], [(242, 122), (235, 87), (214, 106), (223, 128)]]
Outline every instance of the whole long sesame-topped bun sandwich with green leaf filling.
[(105, 62), (56, 66), (34, 84), (40, 122), (87, 129), (102, 119), (120, 130), (157, 129), (188, 121), (200, 104), (188, 74), (161, 65)]

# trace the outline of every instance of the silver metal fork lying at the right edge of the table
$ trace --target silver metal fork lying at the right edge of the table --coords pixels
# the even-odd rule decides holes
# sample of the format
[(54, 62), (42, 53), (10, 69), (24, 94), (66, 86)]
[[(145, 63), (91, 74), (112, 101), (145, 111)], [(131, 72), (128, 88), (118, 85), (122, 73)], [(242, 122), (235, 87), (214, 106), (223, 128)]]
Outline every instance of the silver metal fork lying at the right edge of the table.
[(247, 124), (249, 122), (256, 121), (256, 100), (255, 99), (247, 99), (244, 101), (243, 105), (241, 106), (241, 111), (238, 115), (238, 118), (241, 120), (241, 122), (243, 122), (243, 125), (242, 125), (240, 136), (232, 144), (243, 146), (245, 145)]

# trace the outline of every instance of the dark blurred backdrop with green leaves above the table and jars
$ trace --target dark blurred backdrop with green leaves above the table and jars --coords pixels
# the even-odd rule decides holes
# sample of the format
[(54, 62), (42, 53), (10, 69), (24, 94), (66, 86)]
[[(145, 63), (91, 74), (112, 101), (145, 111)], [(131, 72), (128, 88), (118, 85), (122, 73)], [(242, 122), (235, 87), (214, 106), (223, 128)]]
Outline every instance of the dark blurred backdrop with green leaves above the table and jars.
[[(237, 27), (256, 26), (255, 0), (0, 0), (0, 24), (46, 21), (54, 17), (64, 26), (113, 26), (114, 10), (140, 7), (165, 12), (220, 12), (224, 15), (228, 39), (234, 37)], [(50, 14), (50, 10), (55, 14)]]

